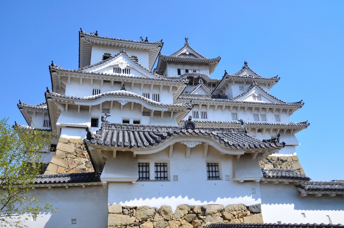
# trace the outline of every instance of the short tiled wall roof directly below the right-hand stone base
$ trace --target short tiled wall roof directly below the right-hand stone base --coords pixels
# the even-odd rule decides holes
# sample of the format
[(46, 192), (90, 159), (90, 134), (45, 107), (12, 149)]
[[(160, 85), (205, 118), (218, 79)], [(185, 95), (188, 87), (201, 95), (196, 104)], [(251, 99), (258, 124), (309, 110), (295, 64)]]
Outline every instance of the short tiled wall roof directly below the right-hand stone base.
[(264, 178), (311, 180), (308, 176), (296, 172), (294, 169), (262, 168)]

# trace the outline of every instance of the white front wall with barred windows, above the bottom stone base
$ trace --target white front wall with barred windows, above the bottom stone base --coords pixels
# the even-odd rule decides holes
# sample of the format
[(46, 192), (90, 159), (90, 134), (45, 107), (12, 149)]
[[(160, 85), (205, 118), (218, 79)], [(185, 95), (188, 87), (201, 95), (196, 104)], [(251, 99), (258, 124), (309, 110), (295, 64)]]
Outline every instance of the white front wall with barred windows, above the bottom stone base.
[[(137, 155), (138, 162), (167, 162), (169, 166), (168, 181), (110, 182), (109, 204), (149, 205), (160, 207), (169, 205), (174, 210), (180, 204), (239, 204), (252, 205), (260, 203), (259, 183), (245, 181), (235, 182), (233, 178), (232, 156), (220, 156), (218, 151), (209, 146), (208, 156), (203, 158), (201, 145), (191, 148), (190, 158), (185, 158), (185, 146), (174, 144), (172, 159), (168, 158), (169, 149), (152, 155)], [(207, 180), (206, 162), (220, 164), (222, 180)], [(154, 175), (154, 166), (150, 167)], [(178, 181), (173, 181), (178, 175)], [(230, 181), (225, 176), (229, 175)], [(252, 194), (256, 189), (256, 194)]]

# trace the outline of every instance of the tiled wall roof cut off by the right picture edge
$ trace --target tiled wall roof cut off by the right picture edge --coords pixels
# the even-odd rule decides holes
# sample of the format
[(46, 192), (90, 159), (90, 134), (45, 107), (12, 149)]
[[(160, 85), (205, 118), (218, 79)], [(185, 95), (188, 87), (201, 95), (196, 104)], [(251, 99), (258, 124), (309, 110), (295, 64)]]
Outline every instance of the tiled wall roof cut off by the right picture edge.
[(342, 181), (310, 181), (296, 186), (305, 191), (344, 192), (344, 182)]

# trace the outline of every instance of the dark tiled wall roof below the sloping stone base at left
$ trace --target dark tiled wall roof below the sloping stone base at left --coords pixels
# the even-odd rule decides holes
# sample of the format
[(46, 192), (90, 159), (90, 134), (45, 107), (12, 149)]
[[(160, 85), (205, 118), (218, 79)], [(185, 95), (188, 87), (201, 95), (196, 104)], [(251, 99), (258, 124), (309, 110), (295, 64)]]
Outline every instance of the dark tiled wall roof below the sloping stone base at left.
[(100, 182), (101, 172), (38, 175), (34, 184)]

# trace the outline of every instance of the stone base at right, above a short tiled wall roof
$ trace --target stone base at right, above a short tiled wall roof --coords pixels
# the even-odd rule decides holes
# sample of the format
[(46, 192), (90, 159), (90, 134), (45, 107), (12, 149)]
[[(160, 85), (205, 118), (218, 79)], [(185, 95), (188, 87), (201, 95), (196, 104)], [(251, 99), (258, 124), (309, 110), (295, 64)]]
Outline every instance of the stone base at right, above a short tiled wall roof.
[(298, 156), (268, 156), (259, 161), (260, 168), (294, 169), (305, 175)]

